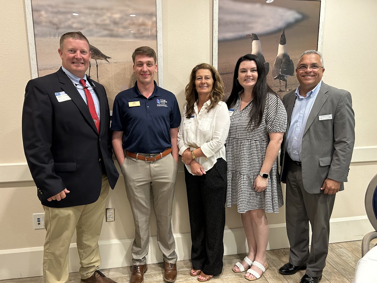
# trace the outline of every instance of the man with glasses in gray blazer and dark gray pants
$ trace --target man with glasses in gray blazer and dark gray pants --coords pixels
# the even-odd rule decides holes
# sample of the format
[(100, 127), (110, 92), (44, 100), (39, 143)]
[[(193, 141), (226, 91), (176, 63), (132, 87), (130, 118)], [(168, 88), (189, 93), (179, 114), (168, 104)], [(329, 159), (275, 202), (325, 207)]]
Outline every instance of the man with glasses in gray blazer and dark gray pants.
[[(286, 183), (290, 275), (306, 269), (300, 283), (322, 278), (335, 195), (344, 189), (355, 141), (351, 94), (322, 82), (322, 55), (305, 51), (297, 63), (300, 86), (283, 98), (288, 129), (282, 143), (281, 178)], [(309, 221), (312, 228), (309, 252)]]

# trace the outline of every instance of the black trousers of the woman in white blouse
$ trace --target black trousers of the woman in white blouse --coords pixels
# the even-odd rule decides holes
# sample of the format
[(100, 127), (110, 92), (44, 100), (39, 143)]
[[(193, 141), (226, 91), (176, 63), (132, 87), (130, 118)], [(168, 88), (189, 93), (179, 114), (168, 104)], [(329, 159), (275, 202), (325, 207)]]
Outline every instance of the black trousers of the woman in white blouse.
[(207, 275), (218, 275), (222, 271), (224, 255), (227, 162), (218, 158), (206, 173), (192, 175), (185, 167), (192, 240), (191, 261), (193, 269), (201, 269)]

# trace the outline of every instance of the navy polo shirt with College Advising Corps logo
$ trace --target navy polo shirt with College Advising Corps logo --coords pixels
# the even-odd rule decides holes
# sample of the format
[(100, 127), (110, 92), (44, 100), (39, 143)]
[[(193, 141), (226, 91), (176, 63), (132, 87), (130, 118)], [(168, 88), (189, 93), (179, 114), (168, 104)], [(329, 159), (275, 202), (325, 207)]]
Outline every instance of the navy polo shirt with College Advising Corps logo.
[(149, 98), (133, 88), (116, 95), (111, 130), (123, 131), (123, 149), (130, 152), (158, 153), (172, 146), (170, 128), (178, 128), (181, 112), (175, 95), (160, 88)]

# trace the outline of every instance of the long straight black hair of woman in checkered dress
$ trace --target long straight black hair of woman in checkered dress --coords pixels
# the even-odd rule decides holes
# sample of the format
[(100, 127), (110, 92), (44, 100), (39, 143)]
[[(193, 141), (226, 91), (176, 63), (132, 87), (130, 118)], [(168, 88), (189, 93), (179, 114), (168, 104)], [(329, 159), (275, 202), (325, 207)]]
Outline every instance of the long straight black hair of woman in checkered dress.
[(274, 91), (267, 85), (266, 69), (262, 61), (254, 54), (246, 54), (238, 59), (236, 67), (234, 68), (232, 91), (226, 100), (228, 108), (237, 101), (238, 94), (244, 91), (244, 88), (238, 82), (238, 69), (243, 61), (254, 61), (257, 65), (258, 79), (252, 92), (253, 107), (250, 109), (249, 122), (251, 129), (255, 129), (262, 123), (267, 91), (272, 93), (274, 93)]

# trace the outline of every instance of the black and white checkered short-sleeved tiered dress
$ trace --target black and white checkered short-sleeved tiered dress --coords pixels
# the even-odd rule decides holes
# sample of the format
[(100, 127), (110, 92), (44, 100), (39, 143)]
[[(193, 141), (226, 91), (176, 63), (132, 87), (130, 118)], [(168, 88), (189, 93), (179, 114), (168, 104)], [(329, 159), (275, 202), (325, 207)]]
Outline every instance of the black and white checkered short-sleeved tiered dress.
[(227, 157), (227, 199), (226, 206), (237, 205), (237, 211), (244, 213), (252, 209), (264, 209), (266, 212), (279, 212), (283, 205), (282, 188), (279, 182), (277, 158), (270, 171), (267, 188), (263, 192), (254, 190), (254, 180), (261, 171), (266, 149), (270, 142), (268, 133), (285, 132), (287, 112), (280, 98), (267, 93), (266, 106), (262, 123), (250, 130), (251, 101), (242, 111), (241, 98), (233, 103), (230, 116), (229, 135), (226, 140)]

